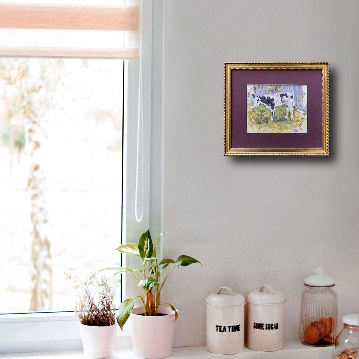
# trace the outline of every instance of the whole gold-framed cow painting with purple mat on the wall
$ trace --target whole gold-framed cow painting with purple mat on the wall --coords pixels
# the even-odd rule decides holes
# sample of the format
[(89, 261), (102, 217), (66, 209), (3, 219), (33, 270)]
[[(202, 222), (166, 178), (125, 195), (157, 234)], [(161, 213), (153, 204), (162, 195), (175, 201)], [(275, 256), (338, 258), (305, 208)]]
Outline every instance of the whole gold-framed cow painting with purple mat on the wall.
[(225, 62), (224, 155), (329, 155), (329, 62)]

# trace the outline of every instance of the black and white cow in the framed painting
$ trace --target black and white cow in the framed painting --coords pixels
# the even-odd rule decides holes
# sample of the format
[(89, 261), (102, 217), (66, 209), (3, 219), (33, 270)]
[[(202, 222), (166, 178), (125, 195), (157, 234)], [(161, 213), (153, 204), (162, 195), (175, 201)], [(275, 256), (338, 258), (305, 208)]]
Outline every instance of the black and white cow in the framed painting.
[[(253, 97), (253, 107), (256, 108), (260, 104), (263, 106), (269, 108), (270, 110), (270, 121), (273, 122), (274, 117), (274, 111), (277, 106), (283, 106), (284, 104), (288, 107), (284, 107), (285, 110), (285, 118), (287, 121), (293, 120), (293, 112), (294, 112), (294, 106), (293, 106), (293, 99), (294, 99), (294, 93), (293, 92), (276, 92), (276, 93), (269, 93), (264, 96), (256, 96), (254, 93), (252, 93)], [(290, 111), (290, 117), (289, 117), (289, 111)]]

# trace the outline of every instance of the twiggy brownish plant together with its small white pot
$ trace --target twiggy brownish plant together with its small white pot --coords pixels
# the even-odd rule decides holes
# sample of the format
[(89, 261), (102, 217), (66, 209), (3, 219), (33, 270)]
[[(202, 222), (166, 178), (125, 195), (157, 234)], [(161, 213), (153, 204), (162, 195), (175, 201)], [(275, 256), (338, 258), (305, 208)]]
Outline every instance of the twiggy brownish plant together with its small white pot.
[(79, 318), (84, 354), (88, 358), (113, 355), (117, 325), (111, 288), (105, 279), (83, 286), (83, 295), (75, 306)]

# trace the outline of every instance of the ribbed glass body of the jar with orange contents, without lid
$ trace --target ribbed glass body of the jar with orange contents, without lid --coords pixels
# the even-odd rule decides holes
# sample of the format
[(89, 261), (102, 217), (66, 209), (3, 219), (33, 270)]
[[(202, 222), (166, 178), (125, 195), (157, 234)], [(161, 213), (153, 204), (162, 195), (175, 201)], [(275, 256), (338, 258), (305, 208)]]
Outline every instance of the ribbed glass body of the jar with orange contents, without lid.
[(337, 295), (330, 286), (309, 286), (302, 294), (300, 341), (311, 346), (334, 345), (337, 331)]

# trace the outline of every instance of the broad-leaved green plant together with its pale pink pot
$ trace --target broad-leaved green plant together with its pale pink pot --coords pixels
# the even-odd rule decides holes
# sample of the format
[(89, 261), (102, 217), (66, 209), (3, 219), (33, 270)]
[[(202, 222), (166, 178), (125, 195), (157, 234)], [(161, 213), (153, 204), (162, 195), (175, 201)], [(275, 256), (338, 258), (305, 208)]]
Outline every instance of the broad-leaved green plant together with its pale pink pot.
[[(121, 330), (130, 318), (134, 354), (140, 358), (157, 359), (172, 354), (174, 321), (178, 313), (172, 304), (160, 303), (160, 294), (174, 268), (200, 263), (195, 258), (185, 255), (179, 256), (176, 260), (169, 258), (159, 260), (157, 246), (164, 233), (166, 232), (161, 233), (153, 244), (150, 232), (147, 230), (141, 235), (138, 244), (122, 244), (116, 248), (121, 253), (140, 257), (142, 260), (140, 269), (120, 265), (105, 269), (115, 270), (116, 274), (129, 272), (142, 291), (141, 295), (124, 300), (118, 307), (116, 316)], [(168, 266), (170, 266), (169, 269)], [(134, 308), (135, 298), (141, 298), (142, 307)]]

